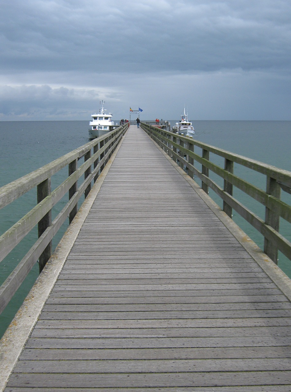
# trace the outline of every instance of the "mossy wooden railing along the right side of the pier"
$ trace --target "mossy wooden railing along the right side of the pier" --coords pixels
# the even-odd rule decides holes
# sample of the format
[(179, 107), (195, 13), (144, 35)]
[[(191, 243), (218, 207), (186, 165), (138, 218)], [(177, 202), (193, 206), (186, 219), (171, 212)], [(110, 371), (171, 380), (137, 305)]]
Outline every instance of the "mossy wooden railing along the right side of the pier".
[[(280, 217), (291, 223), (291, 206), (281, 200), (281, 191), (291, 194), (291, 172), (258, 162), (244, 156), (232, 154), (211, 145), (200, 143), (189, 137), (159, 129), (141, 123), (141, 128), (171, 156), (189, 176), (197, 176), (202, 189), (208, 193), (209, 187), (223, 200), (223, 211), (232, 217), (232, 209), (240, 214), (256, 230), (264, 236), (264, 252), (275, 263), (278, 261), (278, 250), (291, 260), (291, 243), (279, 233)], [(200, 154), (194, 152), (199, 147)], [(210, 153), (214, 157), (222, 157), (224, 167), (210, 161)], [(234, 174), (234, 163), (252, 171), (264, 174), (266, 190), (263, 191)], [(199, 166), (199, 168), (198, 168)], [(200, 169), (200, 170), (199, 170)], [(209, 171), (223, 180), (223, 187), (210, 178)], [(265, 207), (265, 219), (257, 216), (249, 208), (233, 197), (233, 187), (251, 196)], [(290, 232), (290, 229), (289, 229)]]

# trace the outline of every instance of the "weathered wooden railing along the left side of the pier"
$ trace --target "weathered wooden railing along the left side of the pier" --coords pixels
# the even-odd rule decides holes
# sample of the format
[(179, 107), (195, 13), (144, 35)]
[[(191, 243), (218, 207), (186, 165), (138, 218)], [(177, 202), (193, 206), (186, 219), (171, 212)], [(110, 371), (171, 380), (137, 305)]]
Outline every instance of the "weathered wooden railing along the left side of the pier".
[[(83, 194), (86, 198), (92, 181), (97, 180), (127, 128), (128, 123), (125, 123), (112, 132), (0, 188), (0, 209), (35, 187), (37, 187), (38, 203), (0, 237), (0, 261), (2, 261), (35, 225), (38, 225), (38, 240), (0, 287), (0, 313), (37, 261), (39, 261), (39, 270), (42, 271), (52, 254), (53, 237), (68, 216), (71, 223), (77, 213), (79, 199)], [(82, 157), (84, 163), (78, 167), (78, 161)], [(68, 178), (51, 191), (51, 176), (64, 167), (68, 167)], [(78, 180), (83, 175), (84, 179), (80, 184)], [(53, 207), (66, 194), (68, 194), (68, 202), (52, 221)]]

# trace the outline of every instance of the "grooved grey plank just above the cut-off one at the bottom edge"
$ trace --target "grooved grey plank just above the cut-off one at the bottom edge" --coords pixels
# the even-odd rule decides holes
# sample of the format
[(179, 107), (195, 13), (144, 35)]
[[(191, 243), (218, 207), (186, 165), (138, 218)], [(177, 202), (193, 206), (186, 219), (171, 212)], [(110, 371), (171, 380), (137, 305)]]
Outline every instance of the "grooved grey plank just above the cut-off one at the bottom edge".
[[(291, 379), (291, 371), (253, 371), (253, 372), (181, 372), (181, 373), (114, 373), (114, 374), (25, 374), (20, 377), (14, 373), (9, 384), (26, 388), (172, 388), (241, 385), (280, 385), (286, 386)], [(169, 389), (171, 390), (171, 389)]]

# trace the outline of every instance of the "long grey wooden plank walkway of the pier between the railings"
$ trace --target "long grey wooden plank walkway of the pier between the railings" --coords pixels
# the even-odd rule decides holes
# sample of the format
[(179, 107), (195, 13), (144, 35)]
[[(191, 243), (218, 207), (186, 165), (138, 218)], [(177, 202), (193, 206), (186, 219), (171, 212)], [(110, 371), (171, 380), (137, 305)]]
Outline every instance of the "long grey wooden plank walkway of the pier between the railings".
[(175, 165), (129, 128), (5, 391), (291, 390), (290, 292)]

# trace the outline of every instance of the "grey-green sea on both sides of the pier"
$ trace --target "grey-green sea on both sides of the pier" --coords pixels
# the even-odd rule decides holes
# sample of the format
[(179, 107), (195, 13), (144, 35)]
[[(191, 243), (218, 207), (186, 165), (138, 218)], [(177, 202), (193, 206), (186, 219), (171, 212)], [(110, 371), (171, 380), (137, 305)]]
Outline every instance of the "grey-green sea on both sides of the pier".
[[(148, 122), (152, 120), (143, 120)], [(173, 126), (177, 120), (169, 120)], [(114, 121), (119, 123), (119, 120)], [(291, 121), (192, 121), (195, 129), (195, 139), (221, 149), (243, 155), (260, 162), (267, 163), (291, 171)], [(139, 132), (142, 130), (140, 129)], [(0, 187), (16, 180), (39, 167), (59, 158), (84, 145), (88, 139), (88, 121), (9, 121), (0, 122)], [(197, 150), (198, 151), (198, 150)], [(199, 153), (199, 151), (198, 151)], [(223, 166), (221, 158), (212, 157), (215, 163)], [(250, 182), (255, 181), (256, 186), (265, 190), (265, 176), (259, 175), (250, 169), (242, 169), (234, 165), (234, 174)], [(62, 171), (52, 179), (59, 185), (61, 178), (66, 178), (67, 172)], [(220, 178), (210, 174), (218, 185), (222, 186)], [(199, 180), (196, 179), (199, 183)], [(201, 182), (199, 183), (201, 185)], [(284, 192), (285, 193), (285, 192)], [(220, 198), (209, 191), (210, 197), (222, 207)], [(243, 204), (264, 219), (264, 207), (256, 201), (245, 196), (242, 192), (234, 191)], [(291, 204), (291, 195), (284, 194), (282, 200)], [(0, 210), (0, 235), (16, 223), (28, 212), (36, 201), (35, 190), (29, 191), (11, 206)], [(53, 210), (53, 218), (62, 209), (65, 201), (61, 200)], [(264, 239), (249, 223), (245, 222), (235, 211), (233, 220), (254, 240), (261, 249)], [(68, 227), (68, 220), (53, 241), (55, 247)], [(282, 234), (291, 241), (290, 225), (280, 221)], [(37, 238), (37, 228), (20, 242), (11, 254), (0, 263), (0, 284), (4, 282), (15, 265), (21, 260), (27, 250)], [(279, 253), (279, 267), (291, 277), (291, 261)], [(36, 264), (15, 296), (0, 315), (0, 337), (5, 332), (24, 298), (31, 289), (38, 276)]]

